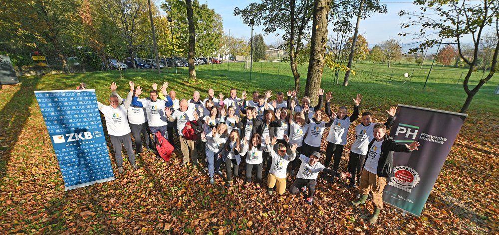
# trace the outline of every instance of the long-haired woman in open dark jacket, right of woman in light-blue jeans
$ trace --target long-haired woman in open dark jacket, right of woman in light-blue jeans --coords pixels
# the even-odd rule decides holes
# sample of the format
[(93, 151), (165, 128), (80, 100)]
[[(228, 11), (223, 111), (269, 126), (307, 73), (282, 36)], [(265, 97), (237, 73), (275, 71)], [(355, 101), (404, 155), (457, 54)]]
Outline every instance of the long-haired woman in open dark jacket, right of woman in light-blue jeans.
[(231, 187), (232, 181), (232, 171), (234, 169), (234, 176), (239, 176), (239, 164), (241, 163), (241, 147), (243, 146), (243, 141), (241, 141), (241, 137), (239, 135), (239, 131), (233, 129), (231, 134), (229, 135), (229, 139), (227, 140), (223, 150), (218, 154), (218, 159), (215, 162), (214, 170), (221, 175), (220, 173), (220, 165), (222, 161), (225, 162), (227, 181), (225, 182), (225, 186)]

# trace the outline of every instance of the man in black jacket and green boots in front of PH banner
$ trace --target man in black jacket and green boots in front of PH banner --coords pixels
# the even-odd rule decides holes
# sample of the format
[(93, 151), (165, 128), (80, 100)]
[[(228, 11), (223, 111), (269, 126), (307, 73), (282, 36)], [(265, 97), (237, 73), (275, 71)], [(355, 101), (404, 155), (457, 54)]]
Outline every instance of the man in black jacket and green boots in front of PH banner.
[(386, 178), (395, 175), (393, 171), (393, 152), (411, 152), (418, 150), (419, 142), (411, 144), (399, 144), (386, 134), (386, 126), (382, 123), (374, 125), (374, 139), (368, 145), (368, 153), (361, 170), (360, 199), (351, 201), (353, 205), (366, 203), (369, 192), (373, 195), (374, 213), (369, 223), (374, 224), (378, 220), (379, 213), (383, 207), (383, 189), (386, 186)]

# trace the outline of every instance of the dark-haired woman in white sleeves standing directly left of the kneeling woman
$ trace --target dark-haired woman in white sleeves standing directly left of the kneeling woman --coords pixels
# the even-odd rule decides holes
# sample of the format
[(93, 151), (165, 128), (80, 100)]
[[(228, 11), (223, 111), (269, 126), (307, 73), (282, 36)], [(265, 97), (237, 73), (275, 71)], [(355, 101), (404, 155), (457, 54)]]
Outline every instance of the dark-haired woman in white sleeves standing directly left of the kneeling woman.
[(261, 143), (261, 135), (258, 133), (254, 133), (250, 138), (250, 143), (248, 143), (246, 137), (244, 137), (243, 143), (243, 151), (241, 151), (241, 155), (246, 156), (246, 184), (245, 188), (249, 187), (251, 184), (251, 172), (253, 170), (253, 166), (256, 168), (256, 179), (255, 179), (255, 188), (256, 190), (260, 190), (260, 180), (261, 180), (261, 168), (263, 165), (263, 149), (265, 149), (265, 145)]

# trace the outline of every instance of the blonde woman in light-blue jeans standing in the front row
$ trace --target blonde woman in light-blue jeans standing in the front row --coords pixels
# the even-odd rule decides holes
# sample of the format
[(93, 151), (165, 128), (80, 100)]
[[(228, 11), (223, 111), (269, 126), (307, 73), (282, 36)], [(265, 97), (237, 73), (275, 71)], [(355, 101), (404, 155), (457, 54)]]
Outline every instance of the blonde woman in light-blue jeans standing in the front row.
[(201, 133), (201, 140), (206, 142), (206, 165), (208, 167), (208, 175), (210, 176), (210, 184), (215, 184), (215, 178), (213, 177), (215, 173), (215, 158), (224, 147), (224, 144), (227, 143), (228, 138), (227, 125), (225, 123), (220, 123), (217, 127), (213, 127), (209, 134), (206, 134), (205, 131)]

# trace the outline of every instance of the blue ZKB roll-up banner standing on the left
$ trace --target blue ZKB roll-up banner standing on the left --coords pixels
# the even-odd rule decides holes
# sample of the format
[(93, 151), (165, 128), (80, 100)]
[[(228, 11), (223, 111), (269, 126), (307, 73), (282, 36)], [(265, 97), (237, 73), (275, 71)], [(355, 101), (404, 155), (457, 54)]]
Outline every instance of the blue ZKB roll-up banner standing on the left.
[(34, 93), (66, 190), (114, 180), (95, 90)]

